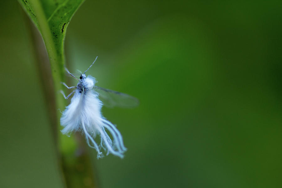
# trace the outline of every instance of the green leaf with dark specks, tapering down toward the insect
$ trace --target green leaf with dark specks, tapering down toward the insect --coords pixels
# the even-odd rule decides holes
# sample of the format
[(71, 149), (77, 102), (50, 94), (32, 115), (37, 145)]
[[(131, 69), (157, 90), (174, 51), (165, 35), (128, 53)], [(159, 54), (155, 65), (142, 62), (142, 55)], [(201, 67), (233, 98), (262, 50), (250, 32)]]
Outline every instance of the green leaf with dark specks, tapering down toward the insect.
[[(48, 52), (55, 90), (64, 80), (64, 39), (70, 19), (84, 0), (18, 0), (41, 33)], [(58, 102), (58, 101), (57, 101)], [(60, 102), (61, 103), (61, 102)], [(61, 106), (62, 104), (57, 105)]]

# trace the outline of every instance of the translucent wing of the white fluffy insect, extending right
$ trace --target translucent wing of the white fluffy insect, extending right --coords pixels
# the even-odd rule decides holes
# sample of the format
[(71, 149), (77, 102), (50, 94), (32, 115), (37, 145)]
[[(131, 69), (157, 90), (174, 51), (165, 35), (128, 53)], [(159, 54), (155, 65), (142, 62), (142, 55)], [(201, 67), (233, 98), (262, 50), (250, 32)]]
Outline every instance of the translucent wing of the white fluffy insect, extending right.
[(95, 86), (94, 90), (99, 93), (99, 99), (106, 107), (133, 108), (139, 105), (139, 100), (128, 94)]

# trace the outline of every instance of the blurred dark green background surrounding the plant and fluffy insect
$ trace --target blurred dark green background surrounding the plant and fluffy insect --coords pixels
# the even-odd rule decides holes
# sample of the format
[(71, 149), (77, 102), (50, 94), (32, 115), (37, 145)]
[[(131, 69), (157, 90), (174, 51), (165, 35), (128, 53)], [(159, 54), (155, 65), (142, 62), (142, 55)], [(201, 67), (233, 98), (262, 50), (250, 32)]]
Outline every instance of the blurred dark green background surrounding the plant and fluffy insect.
[[(63, 187), (24, 12), (1, 1), (0, 187)], [(101, 188), (281, 187), (282, 2), (90, 1), (66, 66), (138, 97), (102, 112), (128, 151)], [(75, 81), (72, 82), (73, 85)]]

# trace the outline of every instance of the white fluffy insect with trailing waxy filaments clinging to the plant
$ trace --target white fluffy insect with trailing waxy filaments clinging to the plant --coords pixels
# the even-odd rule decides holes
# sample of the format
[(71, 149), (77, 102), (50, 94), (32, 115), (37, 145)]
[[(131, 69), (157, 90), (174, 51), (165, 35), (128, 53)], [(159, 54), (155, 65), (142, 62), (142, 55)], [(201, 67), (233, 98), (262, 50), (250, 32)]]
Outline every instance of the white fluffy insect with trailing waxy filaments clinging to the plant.
[[(96, 59), (90, 67), (95, 63)], [(74, 93), (70, 105), (66, 107), (60, 118), (61, 125), (65, 127), (61, 132), (63, 134), (76, 131), (84, 133), (89, 147), (97, 150), (97, 158), (103, 157), (102, 149), (107, 152), (107, 155), (111, 153), (123, 158), (126, 148), (123, 145), (122, 135), (110, 121), (102, 116), (101, 107), (103, 103), (99, 98), (104, 99), (106, 105), (109, 107), (135, 107), (138, 105), (138, 99), (125, 93), (95, 86), (95, 78), (90, 75), (86, 77), (85, 73), (87, 70), (81, 73), (80, 79), (72, 75), (66, 68), (65, 70), (79, 82), (77, 86), (72, 87), (68, 87), (65, 83), (62, 83), (68, 89), (76, 88), (76, 90), (72, 91), (67, 97), (61, 91), (65, 99)], [(113, 140), (107, 131), (112, 135)], [(101, 138), (99, 145), (94, 140), (97, 135)]]

